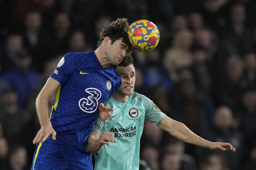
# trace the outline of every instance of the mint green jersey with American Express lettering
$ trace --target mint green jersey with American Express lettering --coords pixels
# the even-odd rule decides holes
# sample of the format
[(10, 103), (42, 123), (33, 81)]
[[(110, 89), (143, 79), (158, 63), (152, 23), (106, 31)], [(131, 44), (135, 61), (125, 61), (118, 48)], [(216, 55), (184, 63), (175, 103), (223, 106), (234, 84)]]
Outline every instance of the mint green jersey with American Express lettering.
[(95, 170), (137, 170), (140, 160), (140, 137), (144, 120), (155, 125), (166, 115), (161, 112), (152, 100), (134, 92), (126, 103), (119, 103), (109, 98), (106, 107), (113, 107), (112, 119), (104, 123), (97, 119), (94, 130), (100, 135), (104, 131), (113, 133), (116, 143), (104, 145), (94, 154)]

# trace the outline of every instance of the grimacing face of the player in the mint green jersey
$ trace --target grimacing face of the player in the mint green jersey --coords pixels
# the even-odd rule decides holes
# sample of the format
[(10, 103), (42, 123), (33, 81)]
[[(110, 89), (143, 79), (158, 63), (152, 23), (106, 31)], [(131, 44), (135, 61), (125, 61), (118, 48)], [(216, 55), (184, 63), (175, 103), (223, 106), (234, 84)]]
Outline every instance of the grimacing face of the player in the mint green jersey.
[(118, 66), (116, 68), (116, 72), (120, 75), (122, 80), (122, 84), (121, 87), (118, 89), (118, 92), (126, 96), (132, 95), (135, 84), (134, 66), (132, 64), (127, 67)]

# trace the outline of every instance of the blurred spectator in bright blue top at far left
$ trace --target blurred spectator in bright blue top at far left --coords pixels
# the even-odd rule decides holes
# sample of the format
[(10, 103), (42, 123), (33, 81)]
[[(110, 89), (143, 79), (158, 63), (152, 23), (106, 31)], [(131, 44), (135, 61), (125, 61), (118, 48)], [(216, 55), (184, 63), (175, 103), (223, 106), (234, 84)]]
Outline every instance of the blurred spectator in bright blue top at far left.
[(22, 51), (15, 58), (15, 68), (6, 71), (2, 78), (15, 89), (18, 94), (18, 105), (21, 108), (27, 107), (30, 91), (41, 83), (38, 72), (30, 69), (32, 57), (28, 51)]

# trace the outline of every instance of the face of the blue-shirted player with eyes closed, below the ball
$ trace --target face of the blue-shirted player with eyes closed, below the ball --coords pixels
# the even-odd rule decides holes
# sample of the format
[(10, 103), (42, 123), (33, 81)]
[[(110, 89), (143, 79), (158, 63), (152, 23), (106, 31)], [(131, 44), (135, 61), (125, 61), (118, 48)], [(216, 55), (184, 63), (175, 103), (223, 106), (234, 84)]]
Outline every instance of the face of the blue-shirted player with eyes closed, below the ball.
[(122, 43), (122, 39), (116, 40), (113, 44), (109, 43), (106, 54), (112, 65), (118, 65), (126, 55), (126, 45)]

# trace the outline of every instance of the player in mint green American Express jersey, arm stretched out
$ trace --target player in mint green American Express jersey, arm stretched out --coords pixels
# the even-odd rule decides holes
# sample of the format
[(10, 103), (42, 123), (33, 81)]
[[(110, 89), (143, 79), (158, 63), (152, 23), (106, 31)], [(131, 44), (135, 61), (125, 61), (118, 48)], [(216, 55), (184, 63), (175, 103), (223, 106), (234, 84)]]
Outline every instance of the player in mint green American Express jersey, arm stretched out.
[(88, 151), (96, 153), (95, 170), (139, 169), (140, 137), (145, 119), (186, 143), (235, 152), (230, 143), (210, 142), (197, 136), (181, 122), (166, 116), (152, 100), (134, 92), (135, 68), (131, 56), (124, 58), (115, 70), (121, 77), (121, 87), (99, 108), (100, 112), (113, 110), (113, 118), (106, 123), (97, 119), (88, 137)]

